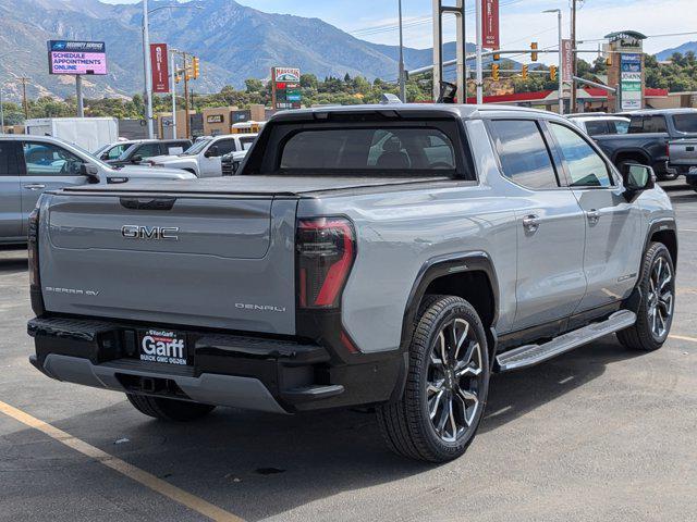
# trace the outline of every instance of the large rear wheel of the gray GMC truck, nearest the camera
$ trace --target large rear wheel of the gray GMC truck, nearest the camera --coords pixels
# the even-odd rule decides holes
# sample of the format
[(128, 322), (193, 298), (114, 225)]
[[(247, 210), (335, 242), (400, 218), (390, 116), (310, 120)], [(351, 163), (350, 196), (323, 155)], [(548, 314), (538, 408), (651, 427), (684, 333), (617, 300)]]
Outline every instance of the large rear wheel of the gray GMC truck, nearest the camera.
[[(464, 323), (468, 324), (467, 330), (463, 328)], [(449, 330), (450, 324), (452, 330)], [(436, 363), (433, 357), (440, 351), (435, 350), (440, 349), (441, 332), (450, 332), (451, 338), (457, 339), (457, 327), (463, 340), (450, 341), (449, 347), (443, 345), (448, 357), (439, 356), (437, 359), (442, 359), (441, 363)], [(463, 331), (466, 332), (464, 335)], [(457, 346), (467, 348), (463, 351)], [(475, 371), (478, 372), (476, 375)], [(441, 375), (442, 381), (438, 378)], [(460, 297), (428, 297), (417, 316), (404, 393), (396, 402), (376, 408), (378, 424), (389, 448), (398, 455), (428, 462), (447, 462), (462, 456), (474, 440), (484, 417), (489, 376), (487, 337), (476, 310)], [(439, 389), (432, 386), (435, 381), (441, 381), (441, 391), (433, 391)], [(467, 391), (463, 389), (465, 387)], [(430, 398), (429, 393), (432, 394)], [(468, 412), (466, 400), (473, 400), (473, 395), (476, 402), (470, 405)], [(449, 401), (452, 410), (447, 409)], [(431, 411), (438, 421), (431, 421)], [(447, 411), (453, 413), (448, 415)], [(443, 414), (450, 426), (439, 433), (436, 424), (440, 424)], [(462, 426), (457, 421), (462, 421)]]

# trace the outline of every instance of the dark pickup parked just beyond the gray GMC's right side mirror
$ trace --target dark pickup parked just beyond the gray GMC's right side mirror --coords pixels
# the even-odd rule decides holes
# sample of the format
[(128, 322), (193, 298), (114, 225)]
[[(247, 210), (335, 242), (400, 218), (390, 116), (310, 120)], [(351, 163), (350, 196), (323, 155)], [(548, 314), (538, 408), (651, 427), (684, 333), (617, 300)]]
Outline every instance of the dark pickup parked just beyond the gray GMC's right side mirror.
[(673, 141), (697, 138), (697, 110), (645, 110), (619, 115), (629, 119), (627, 134), (594, 136), (617, 167), (636, 163), (650, 165), (659, 179), (674, 179), (697, 166), (697, 153), (682, 156), (680, 162), (675, 162), (670, 148)]

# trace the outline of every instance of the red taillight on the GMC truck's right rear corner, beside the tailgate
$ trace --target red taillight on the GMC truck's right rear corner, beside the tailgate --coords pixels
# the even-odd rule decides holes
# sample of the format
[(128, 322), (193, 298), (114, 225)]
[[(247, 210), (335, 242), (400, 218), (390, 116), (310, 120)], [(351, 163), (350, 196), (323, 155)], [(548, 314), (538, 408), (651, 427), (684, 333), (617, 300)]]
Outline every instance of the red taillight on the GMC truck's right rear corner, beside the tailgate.
[(298, 307), (338, 308), (356, 257), (356, 237), (345, 217), (299, 220), (295, 238)]

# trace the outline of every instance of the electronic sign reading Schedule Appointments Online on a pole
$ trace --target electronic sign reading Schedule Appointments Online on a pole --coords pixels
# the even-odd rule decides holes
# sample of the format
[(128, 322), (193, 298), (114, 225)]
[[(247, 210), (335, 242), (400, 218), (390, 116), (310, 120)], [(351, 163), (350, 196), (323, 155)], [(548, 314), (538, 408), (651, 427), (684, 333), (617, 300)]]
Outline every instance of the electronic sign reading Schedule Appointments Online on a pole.
[(50, 40), (50, 74), (107, 74), (107, 49), (103, 41)]

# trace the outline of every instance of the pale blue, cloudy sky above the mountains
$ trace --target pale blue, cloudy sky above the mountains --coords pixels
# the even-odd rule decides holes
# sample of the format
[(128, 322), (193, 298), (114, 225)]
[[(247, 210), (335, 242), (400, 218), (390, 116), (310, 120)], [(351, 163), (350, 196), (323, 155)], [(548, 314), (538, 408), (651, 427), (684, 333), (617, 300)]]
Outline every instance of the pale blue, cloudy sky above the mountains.
[[(133, 3), (133, 0), (102, 0), (108, 3)], [(139, 1), (139, 0), (134, 0)], [(354, 36), (380, 44), (398, 44), (398, 0), (237, 0), (266, 12), (314, 16), (335, 25)], [(697, 30), (697, 0), (586, 0), (579, 11), (579, 39), (583, 48), (597, 49), (606, 34), (617, 29), (635, 29), (646, 35), (686, 33)], [(541, 14), (546, 9), (562, 9), (564, 33), (568, 36), (568, 0), (500, 0), (501, 38), (504, 47), (527, 47), (537, 40), (540, 48), (555, 46), (557, 18)], [(475, 0), (466, 0), (474, 11)], [(432, 45), (428, 17), (431, 0), (403, 0), (405, 45), (427, 48)], [(467, 40), (474, 40), (474, 13), (467, 24)], [(445, 30), (447, 37), (453, 32)], [(657, 52), (687, 40), (697, 40), (697, 34), (656, 37), (646, 42), (648, 52)], [(589, 55), (589, 58), (592, 58)], [(550, 59), (551, 60), (551, 59)]]

